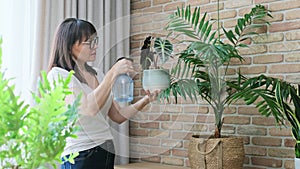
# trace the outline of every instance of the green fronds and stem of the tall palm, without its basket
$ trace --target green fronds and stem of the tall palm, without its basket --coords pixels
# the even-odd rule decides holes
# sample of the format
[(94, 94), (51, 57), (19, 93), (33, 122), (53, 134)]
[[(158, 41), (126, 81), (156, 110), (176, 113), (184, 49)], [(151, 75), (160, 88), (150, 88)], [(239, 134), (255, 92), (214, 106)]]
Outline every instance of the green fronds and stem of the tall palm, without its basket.
[[(192, 12), (191, 7), (187, 6), (178, 8), (166, 26), (170, 34), (185, 35), (189, 38), (180, 42), (185, 43), (187, 47), (179, 52), (178, 63), (172, 70), (172, 75), (176, 78), (193, 79), (192, 83), (197, 84), (197, 89), (191, 91), (189, 97), (195, 99), (196, 96), (201, 96), (213, 108), (216, 138), (221, 137), (225, 106), (238, 99), (245, 100), (247, 104), (262, 99), (256, 105), (259, 112), (265, 116), (272, 114), (278, 123), (282, 123), (285, 118), (274, 92), (279, 79), (264, 75), (247, 79), (240, 73), (230, 78), (227, 75), (232, 59), (243, 61), (239, 50), (248, 47), (243, 42), (251, 41), (252, 37), (259, 35), (257, 29), (269, 24), (265, 20), (267, 17), (272, 17), (270, 11), (262, 5), (256, 5), (228, 31), (219, 27), (219, 18), (217, 22), (211, 21), (207, 13), (201, 17), (199, 7), (194, 8)], [(218, 24), (217, 30), (212, 29), (213, 24)], [(269, 86), (272, 88), (268, 88)], [(185, 94), (178, 89), (181, 89), (178, 84), (171, 84), (171, 87), (163, 92), (162, 98), (169, 98), (172, 93), (177, 100), (178, 96)]]

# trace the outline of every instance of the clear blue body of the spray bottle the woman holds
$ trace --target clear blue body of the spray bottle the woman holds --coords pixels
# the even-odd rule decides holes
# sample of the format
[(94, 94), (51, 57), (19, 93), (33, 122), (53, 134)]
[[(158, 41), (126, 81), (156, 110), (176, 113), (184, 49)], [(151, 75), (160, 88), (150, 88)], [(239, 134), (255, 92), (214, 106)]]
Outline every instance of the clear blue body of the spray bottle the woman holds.
[(121, 74), (115, 80), (112, 89), (114, 100), (131, 102), (133, 100), (133, 80), (127, 74)]

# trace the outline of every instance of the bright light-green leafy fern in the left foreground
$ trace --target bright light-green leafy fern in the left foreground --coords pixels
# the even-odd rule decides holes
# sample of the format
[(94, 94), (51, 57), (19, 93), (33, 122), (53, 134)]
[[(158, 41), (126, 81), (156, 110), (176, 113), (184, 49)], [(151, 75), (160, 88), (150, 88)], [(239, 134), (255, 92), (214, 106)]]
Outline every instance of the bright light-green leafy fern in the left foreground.
[[(1, 43), (0, 38), (0, 69)], [(30, 106), (15, 94), (15, 85), (0, 71), (0, 168), (56, 168), (65, 139), (75, 137), (76, 131), (79, 97), (65, 106), (65, 97), (71, 94), (71, 75), (51, 84), (42, 72), (39, 93), (32, 93), (36, 104)]]

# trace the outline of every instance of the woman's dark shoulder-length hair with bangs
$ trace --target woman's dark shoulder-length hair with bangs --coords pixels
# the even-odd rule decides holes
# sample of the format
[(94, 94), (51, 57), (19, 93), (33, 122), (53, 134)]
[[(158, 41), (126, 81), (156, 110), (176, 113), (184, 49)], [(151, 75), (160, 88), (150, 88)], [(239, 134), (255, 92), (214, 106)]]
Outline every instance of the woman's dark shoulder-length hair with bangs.
[[(74, 75), (81, 82), (87, 83), (73, 60), (72, 46), (76, 43), (76, 41), (81, 43), (96, 33), (96, 28), (88, 21), (76, 18), (65, 19), (56, 30), (48, 65), (48, 72), (53, 67), (60, 67), (67, 71), (74, 70)], [(97, 74), (97, 72), (88, 64), (85, 64), (85, 68), (92, 74)]]

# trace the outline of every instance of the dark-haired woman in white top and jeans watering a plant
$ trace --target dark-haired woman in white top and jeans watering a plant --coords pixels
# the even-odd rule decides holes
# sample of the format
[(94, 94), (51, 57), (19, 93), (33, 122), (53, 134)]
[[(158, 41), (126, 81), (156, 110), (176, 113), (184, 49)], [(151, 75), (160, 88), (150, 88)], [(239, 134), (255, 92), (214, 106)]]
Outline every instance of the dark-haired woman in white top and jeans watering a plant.
[(66, 140), (62, 154), (63, 157), (68, 157), (71, 153), (79, 152), (79, 156), (75, 158), (75, 164), (65, 161), (62, 169), (114, 168), (113, 136), (107, 117), (122, 123), (143, 109), (157, 95), (157, 92), (148, 94), (135, 104), (120, 108), (112, 99), (112, 85), (118, 75), (135, 72), (132, 62), (127, 59), (119, 60), (103, 75), (87, 64), (95, 61), (97, 44), (95, 27), (80, 19), (64, 20), (55, 35), (48, 79), (53, 81), (58, 76), (67, 77), (69, 71), (74, 70), (75, 74), (69, 84), (73, 94), (66, 98), (66, 103), (73, 103), (80, 93), (83, 94), (77, 122), (80, 130), (76, 133), (77, 138)]

